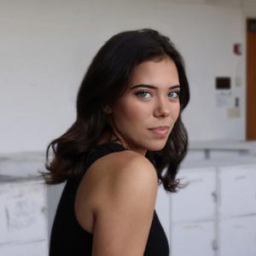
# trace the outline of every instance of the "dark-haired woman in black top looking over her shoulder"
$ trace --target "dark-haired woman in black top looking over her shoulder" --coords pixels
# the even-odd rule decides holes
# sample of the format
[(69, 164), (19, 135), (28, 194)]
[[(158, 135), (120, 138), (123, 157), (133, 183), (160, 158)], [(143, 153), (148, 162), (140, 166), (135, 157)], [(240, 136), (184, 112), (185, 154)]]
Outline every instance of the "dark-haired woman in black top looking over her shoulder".
[(80, 86), (76, 121), (47, 148), (47, 183), (67, 181), (50, 256), (169, 255), (154, 206), (158, 183), (179, 186), (188, 102), (183, 58), (166, 36), (121, 32), (102, 46)]

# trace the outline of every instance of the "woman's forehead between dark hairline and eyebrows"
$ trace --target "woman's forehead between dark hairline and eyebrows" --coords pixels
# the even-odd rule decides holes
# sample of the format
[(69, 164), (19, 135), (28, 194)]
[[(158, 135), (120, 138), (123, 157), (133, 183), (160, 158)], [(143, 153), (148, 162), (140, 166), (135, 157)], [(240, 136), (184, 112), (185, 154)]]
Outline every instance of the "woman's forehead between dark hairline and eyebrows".
[(129, 86), (134, 84), (173, 85), (179, 84), (177, 67), (172, 59), (143, 61), (131, 74)]

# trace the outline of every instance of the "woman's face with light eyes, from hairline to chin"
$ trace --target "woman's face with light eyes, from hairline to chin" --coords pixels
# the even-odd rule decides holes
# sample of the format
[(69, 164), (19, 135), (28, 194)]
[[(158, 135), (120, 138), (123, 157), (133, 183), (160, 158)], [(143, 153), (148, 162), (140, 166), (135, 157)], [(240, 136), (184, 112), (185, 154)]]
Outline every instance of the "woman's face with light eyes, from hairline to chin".
[(179, 91), (177, 67), (170, 58), (139, 64), (111, 108), (113, 131), (139, 154), (164, 148), (180, 111)]

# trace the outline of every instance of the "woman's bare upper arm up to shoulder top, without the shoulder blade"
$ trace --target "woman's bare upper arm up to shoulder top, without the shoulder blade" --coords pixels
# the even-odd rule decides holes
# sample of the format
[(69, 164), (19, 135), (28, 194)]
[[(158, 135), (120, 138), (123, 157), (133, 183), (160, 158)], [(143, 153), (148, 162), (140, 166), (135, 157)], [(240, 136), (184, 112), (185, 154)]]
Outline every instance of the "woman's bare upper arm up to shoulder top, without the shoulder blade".
[(133, 154), (117, 166), (96, 205), (92, 255), (143, 255), (156, 194), (157, 174), (146, 158)]

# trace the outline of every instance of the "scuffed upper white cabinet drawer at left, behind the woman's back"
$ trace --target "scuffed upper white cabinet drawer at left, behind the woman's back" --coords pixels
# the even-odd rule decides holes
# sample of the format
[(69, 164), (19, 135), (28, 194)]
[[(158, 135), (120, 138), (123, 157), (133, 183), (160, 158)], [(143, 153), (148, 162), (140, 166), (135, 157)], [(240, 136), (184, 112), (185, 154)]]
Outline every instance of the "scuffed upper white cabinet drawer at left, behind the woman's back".
[(0, 183), (0, 205), (0, 244), (47, 238), (47, 201), (44, 183)]

